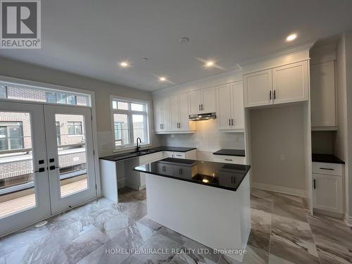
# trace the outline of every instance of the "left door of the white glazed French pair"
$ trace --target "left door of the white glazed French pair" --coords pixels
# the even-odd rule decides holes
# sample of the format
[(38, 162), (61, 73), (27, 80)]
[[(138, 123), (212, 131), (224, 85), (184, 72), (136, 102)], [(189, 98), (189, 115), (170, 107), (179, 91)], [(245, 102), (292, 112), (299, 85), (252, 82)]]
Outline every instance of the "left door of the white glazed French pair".
[(41, 105), (0, 103), (0, 235), (50, 215), (44, 137)]

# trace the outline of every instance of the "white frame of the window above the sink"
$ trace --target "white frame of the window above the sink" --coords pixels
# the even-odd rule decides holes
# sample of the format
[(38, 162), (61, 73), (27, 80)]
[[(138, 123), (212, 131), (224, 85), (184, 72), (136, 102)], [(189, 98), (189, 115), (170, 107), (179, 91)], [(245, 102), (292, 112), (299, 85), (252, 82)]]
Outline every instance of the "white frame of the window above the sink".
[[(128, 103), (128, 110), (122, 110), (122, 109), (115, 109), (113, 108), (113, 101), (123, 101)], [(142, 103), (145, 105), (145, 111), (132, 111), (131, 110), (131, 103)], [(117, 104), (116, 104), (117, 105)], [(151, 146), (151, 132), (150, 132), (150, 102), (149, 101), (143, 101), (139, 99), (132, 99), (132, 98), (127, 98), (127, 97), (120, 97), (120, 96), (110, 96), (110, 109), (111, 109), (111, 130), (113, 132), (113, 152), (117, 151), (125, 151), (127, 149), (134, 149), (137, 144), (136, 142), (133, 142), (134, 140), (134, 132), (133, 132), (133, 120), (132, 120), (132, 115), (144, 115), (144, 122), (146, 124), (145, 128), (145, 133), (146, 133), (146, 142), (142, 142), (140, 146)], [(128, 123), (129, 123), (129, 129), (130, 129), (130, 144), (127, 145), (122, 145), (122, 146), (116, 146), (115, 142), (115, 120), (114, 120), (114, 114), (125, 114), (127, 115), (128, 118)]]

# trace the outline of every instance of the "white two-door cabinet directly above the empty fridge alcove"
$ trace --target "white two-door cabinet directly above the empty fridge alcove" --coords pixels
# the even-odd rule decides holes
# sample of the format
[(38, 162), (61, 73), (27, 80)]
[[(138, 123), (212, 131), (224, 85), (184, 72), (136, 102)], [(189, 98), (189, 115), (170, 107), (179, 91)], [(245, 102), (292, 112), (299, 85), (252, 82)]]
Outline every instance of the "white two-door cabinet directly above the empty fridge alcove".
[(308, 101), (308, 61), (244, 75), (244, 106)]

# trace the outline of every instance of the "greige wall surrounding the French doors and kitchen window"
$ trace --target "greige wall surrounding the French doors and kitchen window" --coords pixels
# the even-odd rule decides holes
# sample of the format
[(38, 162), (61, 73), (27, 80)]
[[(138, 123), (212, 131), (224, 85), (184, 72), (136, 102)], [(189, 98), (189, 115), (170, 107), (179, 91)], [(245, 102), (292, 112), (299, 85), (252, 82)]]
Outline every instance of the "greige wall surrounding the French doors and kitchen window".
[(44, 68), (30, 63), (13, 61), (4, 57), (0, 57), (0, 75), (94, 91), (96, 99), (99, 156), (106, 156), (113, 153), (113, 132), (109, 103), (110, 95), (149, 101), (151, 106), (151, 141), (154, 145), (158, 145), (157, 139), (154, 137), (153, 133), (153, 103), (150, 92)]

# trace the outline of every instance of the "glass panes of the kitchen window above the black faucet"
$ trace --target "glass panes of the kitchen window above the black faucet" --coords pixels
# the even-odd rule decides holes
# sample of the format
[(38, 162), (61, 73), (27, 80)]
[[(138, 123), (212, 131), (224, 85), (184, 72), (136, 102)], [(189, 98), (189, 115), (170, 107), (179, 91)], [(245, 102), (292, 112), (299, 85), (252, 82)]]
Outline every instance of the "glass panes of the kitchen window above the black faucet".
[(149, 144), (148, 104), (125, 99), (112, 99), (115, 149), (134, 146), (137, 138)]

